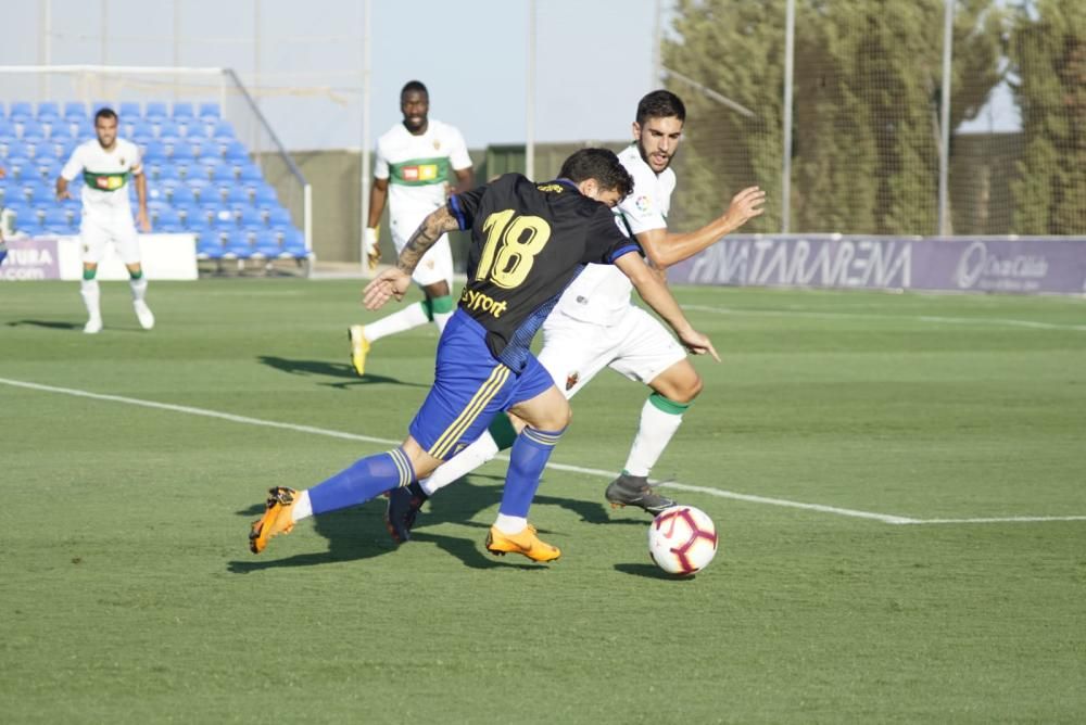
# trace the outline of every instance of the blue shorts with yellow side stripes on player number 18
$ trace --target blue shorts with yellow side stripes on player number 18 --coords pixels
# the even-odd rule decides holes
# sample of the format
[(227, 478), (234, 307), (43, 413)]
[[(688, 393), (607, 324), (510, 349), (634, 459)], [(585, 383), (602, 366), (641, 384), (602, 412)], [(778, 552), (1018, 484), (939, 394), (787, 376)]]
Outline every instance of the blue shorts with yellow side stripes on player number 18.
[(457, 309), (438, 343), (433, 387), (408, 429), (429, 455), (449, 460), (482, 435), (502, 410), (554, 385), (534, 355), (519, 373), (487, 347), (487, 330)]

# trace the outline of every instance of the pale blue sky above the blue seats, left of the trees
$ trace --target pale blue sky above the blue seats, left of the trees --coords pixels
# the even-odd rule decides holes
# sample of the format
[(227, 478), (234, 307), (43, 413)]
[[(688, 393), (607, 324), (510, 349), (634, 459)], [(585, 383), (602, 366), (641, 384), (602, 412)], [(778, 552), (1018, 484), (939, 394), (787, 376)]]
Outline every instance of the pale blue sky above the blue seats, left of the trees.
[[(5, 3), (0, 64), (38, 62), (42, 2)], [(103, 55), (114, 65), (174, 63), (174, 0), (49, 3), (53, 64), (99, 64)], [(458, 126), (469, 147), (522, 143), (528, 7), (372, 0), (370, 142), (399, 120), (400, 87), (418, 78), (430, 88), (431, 115)], [(253, 0), (184, 0), (177, 58), (232, 67), (250, 84), (258, 58), (270, 92), (262, 109), (289, 149), (357, 148), (362, 8), (359, 0), (260, 0), (258, 10)], [(636, 101), (653, 86), (656, 2), (538, 0), (536, 8), (536, 140), (628, 138)]]

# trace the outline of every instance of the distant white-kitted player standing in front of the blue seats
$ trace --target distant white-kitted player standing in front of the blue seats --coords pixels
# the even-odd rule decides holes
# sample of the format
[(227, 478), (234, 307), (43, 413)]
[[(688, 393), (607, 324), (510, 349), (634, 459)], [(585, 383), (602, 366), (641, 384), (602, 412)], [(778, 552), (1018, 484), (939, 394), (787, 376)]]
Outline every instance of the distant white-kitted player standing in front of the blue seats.
[(94, 135), (98, 137), (76, 147), (72, 157), (56, 177), (56, 199), (71, 199), (68, 182), (83, 174), (83, 221), (79, 225), (79, 244), (83, 246), (83, 282), (79, 289), (87, 305), (87, 325), (83, 331), (94, 334), (102, 330), (99, 307), (98, 263), (102, 260), (105, 244), (113, 242), (117, 256), (128, 268), (132, 290), (132, 308), (140, 327), (154, 327), (154, 315), (147, 306), (147, 279), (140, 265), (139, 234), (132, 220), (128, 182), (136, 177), (136, 198), (139, 201), (137, 220), (142, 231), (151, 231), (147, 215), (147, 180), (135, 143), (117, 138), (117, 114), (111, 109), (100, 109), (94, 114)]

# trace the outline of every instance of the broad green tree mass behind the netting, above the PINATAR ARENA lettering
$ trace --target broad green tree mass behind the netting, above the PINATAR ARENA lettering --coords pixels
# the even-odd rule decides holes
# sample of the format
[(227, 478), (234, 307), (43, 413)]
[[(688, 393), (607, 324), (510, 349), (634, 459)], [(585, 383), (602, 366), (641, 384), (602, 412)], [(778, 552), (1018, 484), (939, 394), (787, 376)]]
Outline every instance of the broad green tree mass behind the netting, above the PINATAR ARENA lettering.
[[(680, 0), (665, 65), (755, 112), (725, 109), (672, 75), (690, 101), (682, 214), (704, 217), (721, 191), (758, 183), (781, 224), (784, 0)], [(797, 0), (792, 229), (935, 232), (942, 0)], [(951, 127), (1000, 81), (1003, 13), (960, 0)], [(969, 79), (969, 82), (964, 82)], [(696, 185), (696, 189), (690, 187)], [(686, 194), (685, 196), (683, 194)]]

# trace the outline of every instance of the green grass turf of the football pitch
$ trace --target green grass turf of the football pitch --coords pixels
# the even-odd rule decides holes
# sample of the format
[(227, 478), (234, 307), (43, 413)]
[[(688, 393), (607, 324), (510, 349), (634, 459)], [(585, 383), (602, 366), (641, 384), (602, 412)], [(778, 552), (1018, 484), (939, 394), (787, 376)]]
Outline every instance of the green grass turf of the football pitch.
[[(0, 378), (400, 440), (435, 334), (346, 366), (357, 282), (0, 285)], [(656, 471), (913, 519), (1086, 516), (1086, 302), (678, 290), (724, 362)], [(604, 372), (553, 461), (618, 470), (645, 389)], [(563, 559), (483, 549), (504, 463), (395, 549), (383, 500), (260, 557), (269, 485), (388, 446), (0, 383), (5, 723), (1083, 722), (1086, 521), (893, 525), (682, 493), (721, 534), (658, 574), (646, 517), (550, 471)]]

